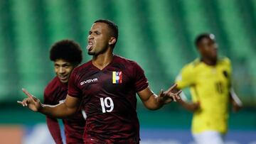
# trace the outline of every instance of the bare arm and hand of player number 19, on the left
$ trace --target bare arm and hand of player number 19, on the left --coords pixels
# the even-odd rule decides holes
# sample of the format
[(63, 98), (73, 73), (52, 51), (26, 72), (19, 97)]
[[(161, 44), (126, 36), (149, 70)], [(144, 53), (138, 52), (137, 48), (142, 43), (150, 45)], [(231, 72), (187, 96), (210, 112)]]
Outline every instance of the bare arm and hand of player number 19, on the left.
[(28, 97), (23, 99), (23, 101), (17, 101), (18, 104), (27, 106), (32, 111), (37, 111), (53, 118), (65, 118), (71, 116), (78, 110), (78, 106), (80, 105), (80, 99), (72, 96), (67, 96), (65, 102), (55, 106), (41, 104), (40, 100), (26, 91), (26, 89), (22, 89), (22, 91)]

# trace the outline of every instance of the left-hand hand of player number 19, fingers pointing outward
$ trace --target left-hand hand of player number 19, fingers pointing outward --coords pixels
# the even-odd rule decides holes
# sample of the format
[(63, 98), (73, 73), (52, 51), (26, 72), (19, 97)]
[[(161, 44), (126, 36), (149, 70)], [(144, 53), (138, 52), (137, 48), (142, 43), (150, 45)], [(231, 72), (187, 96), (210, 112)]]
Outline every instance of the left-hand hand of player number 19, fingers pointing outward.
[(22, 89), (22, 91), (28, 97), (23, 99), (23, 101), (17, 101), (17, 103), (21, 104), (22, 106), (28, 106), (28, 108), (32, 111), (39, 111), (42, 108), (40, 100), (37, 99), (36, 96), (33, 96), (28, 91), (26, 91), (26, 89)]

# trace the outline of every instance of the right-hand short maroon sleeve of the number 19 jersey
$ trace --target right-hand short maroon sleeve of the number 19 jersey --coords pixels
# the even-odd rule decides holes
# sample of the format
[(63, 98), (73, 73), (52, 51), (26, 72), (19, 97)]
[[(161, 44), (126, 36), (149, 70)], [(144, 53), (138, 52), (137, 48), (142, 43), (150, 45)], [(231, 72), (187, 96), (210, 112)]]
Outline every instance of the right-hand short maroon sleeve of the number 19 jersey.
[(134, 62), (134, 87), (136, 92), (140, 92), (143, 89), (149, 87), (149, 82), (145, 77), (144, 70), (136, 62)]

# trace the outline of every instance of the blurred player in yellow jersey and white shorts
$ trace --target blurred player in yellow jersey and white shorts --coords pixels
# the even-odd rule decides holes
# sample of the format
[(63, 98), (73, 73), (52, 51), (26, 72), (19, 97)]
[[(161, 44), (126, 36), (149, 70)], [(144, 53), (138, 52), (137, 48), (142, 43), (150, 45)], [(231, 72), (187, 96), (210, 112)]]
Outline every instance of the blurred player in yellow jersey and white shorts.
[(228, 104), (238, 111), (242, 102), (231, 88), (231, 64), (227, 57), (218, 57), (213, 34), (196, 38), (201, 57), (189, 63), (176, 78), (178, 89), (190, 87), (192, 102), (181, 94), (181, 105), (193, 111), (192, 133), (198, 144), (223, 144), (228, 130)]

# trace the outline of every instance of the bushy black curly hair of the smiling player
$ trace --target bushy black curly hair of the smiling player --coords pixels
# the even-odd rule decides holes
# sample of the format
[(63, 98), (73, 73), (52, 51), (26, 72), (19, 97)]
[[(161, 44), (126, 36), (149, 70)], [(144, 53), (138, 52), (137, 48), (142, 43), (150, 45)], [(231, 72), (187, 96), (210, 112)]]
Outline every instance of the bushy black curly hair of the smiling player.
[(74, 40), (60, 40), (50, 48), (50, 60), (63, 59), (73, 65), (82, 62), (82, 50)]

